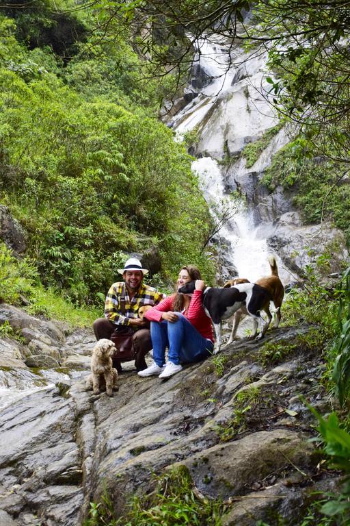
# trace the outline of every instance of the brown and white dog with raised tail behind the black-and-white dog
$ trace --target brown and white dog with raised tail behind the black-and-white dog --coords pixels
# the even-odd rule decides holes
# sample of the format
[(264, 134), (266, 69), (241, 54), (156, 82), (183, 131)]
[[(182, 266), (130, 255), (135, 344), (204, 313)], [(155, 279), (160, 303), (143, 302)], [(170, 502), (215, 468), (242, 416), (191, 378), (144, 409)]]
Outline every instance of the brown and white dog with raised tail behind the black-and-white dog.
[[(280, 321), (281, 321), (281, 305), (282, 305), (282, 301), (284, 298), (284, 286), (282, 285), (282, 281), (280, 280), (280, 277), (278, 276), (278, 266), (275, 260), (275, 256), (273, 255), (269, 256), (269, 265), (271, 268), (271, 275), (260, 277), (260, 279), (257, 279), (256, 284), (260, 285), (260, 287), (266, 288), (269, 292), (271, 301), (273, 301), (273, 304), (275, 305), (275, 328), (277, 328), (278, 325), (280, 325)], [(224, 284), (224, 288), (230, 288), (238, 284), (249, 283), (249, 282), (250, 281), (248, 281), (248, 279), (245, 279), (243, 277), (234, 277), (234, 279), (230, 279), (229, 281), (226, 281), (226, 284)], [(267, 305), (267, 308), (264, 308), (263, 310), (267, 314), (267, 318), (268, 318), (267, 328), (268, 328), (271, 323), (271, 319), (272, 319), (271, 312), (269, 310), (269, 305)], [(228, 342), (226, 343), (226, 347), (227, 345), (230, 345), (230, 343), (233, 342), (234, 336), (236, 336), (239, 322), (241, 321), (241, 317), (242, 315), (245, 315), (245, 314), (248, 314), (245, 306), (241, 307), (239, 310), (237, 310), (234, 313), (232, 331), (231, 331), (230, 338)], [(256, 338), (257, 329), (258, 329), (258, 323), (256, 323), (256, 321), (254, 320), (253, 333), (250, 336), (250, 339)]]

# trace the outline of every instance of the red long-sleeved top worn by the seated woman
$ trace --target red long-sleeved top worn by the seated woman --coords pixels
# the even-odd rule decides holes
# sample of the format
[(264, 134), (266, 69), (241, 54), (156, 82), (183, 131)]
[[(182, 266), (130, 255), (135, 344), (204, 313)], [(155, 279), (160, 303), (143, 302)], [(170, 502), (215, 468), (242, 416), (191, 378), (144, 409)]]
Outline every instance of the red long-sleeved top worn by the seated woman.
[[(191, 303), (189, 303), (189, 308), (185, 310), (182, 314), (187, 318), (187, 320), (195, 327), (204, 338), (214, 342), (213, 335), (213, 326), (211, 324), (211, 318), (206, 316), (204, 309), (202, 307), (202, 290), (195, 290), (191, 297)], [(154, 305), (152, 309), (148, 310), (145, 313), (145, 318), (149, 321), (162, 321), (161, 313), (162, 312), (172, 312), (173, 303), (175, 295), (168, 296), (163, 299), (158, 305)]]

